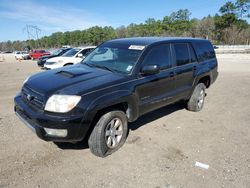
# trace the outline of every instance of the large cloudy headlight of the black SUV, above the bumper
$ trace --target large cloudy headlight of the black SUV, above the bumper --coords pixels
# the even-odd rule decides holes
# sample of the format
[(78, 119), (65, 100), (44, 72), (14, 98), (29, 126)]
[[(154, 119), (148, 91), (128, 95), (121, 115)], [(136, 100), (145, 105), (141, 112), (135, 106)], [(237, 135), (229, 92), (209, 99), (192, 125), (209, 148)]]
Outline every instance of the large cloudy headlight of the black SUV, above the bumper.
[(45, 105), (45, 110), (58, 113), (69, 112), (80, 100), (81, 97), (76, 95), (52, 95)]

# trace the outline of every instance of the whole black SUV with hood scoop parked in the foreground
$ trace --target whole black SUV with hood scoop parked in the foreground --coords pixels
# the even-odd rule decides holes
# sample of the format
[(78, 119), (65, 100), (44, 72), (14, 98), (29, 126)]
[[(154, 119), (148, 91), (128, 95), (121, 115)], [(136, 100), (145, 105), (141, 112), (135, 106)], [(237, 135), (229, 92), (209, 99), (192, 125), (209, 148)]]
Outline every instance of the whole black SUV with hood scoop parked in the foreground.
[(105, 157), (125, 142), (128, 122), (184, 101), (200, 111), (205, 90), (217, 78), (208, 40), (126, 38), (104, 42), (82, 63), (26, 79), (15, 112), (41, 139), (88, 139)]

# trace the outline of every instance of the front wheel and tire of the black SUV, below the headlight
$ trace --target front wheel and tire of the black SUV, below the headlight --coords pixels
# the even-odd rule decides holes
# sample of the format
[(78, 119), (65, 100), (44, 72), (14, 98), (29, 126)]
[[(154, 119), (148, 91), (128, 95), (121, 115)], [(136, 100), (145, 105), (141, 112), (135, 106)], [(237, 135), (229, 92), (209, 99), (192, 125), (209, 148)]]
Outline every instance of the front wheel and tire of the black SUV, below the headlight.
[(96, 123), (88, 145), (98, 157), (106, 157), (117, 151), (126, 141), (128, 133), (127, 116), (122, 111), (111, 111), (101, 116)]

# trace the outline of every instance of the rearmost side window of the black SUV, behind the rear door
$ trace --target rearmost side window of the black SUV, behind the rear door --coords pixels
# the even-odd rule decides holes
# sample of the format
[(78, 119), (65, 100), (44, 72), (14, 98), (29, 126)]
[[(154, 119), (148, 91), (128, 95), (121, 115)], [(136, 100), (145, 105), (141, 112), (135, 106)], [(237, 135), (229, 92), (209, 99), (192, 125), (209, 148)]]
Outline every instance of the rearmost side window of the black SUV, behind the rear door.
[(194, 46), (196, 48), (199, 61), (206, 61), (215, 58), (214, 48), (209, 41), (195, 42)]

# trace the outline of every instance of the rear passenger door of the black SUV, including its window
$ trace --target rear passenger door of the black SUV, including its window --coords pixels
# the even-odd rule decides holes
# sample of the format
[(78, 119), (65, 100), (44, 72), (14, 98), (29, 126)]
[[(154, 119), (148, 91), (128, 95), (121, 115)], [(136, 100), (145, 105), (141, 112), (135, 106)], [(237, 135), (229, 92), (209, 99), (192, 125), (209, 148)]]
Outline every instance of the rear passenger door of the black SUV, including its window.
[(173, 43), (171, 46), (175, 62), (176, 99), (184, 99), (189, 96), (193, 85), (197, 57), (189, 43)]

